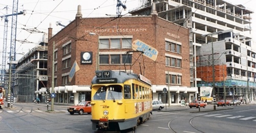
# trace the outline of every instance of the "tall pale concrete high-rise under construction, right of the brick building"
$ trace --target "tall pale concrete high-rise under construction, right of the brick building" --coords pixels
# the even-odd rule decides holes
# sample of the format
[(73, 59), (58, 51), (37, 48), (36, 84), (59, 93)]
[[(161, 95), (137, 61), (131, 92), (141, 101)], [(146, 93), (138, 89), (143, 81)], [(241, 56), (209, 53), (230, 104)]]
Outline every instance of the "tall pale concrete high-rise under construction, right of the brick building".
[[(189, 28), (190, 83), (192, 87), (202, 86), (201, 75), (199, 76), (197, 75), (198, 73), (197, 58), (201, 56), (201, 53), (203, 52), (201, 50), (202, 44), (218, 40), (218, 35), (213, 34), (216, 32), (232, 29), (234, 33), (240, 34), (243, 36), (243, 38), (238, 39), (239, 41), (238, 43), (240, 42), (244, 43), (243, 45), (245, 46), (241, 47), (237, 45), (232, 45), (234, 47), (230, 48), (228, 47), (228, 45), (226, 45), (226, 47), (224, 45), (221, 45), (221, 48), (226, 48), (226, 50), (236, 49), (235, 51), (238, 51), (239, 54), (244, 54), (245, 56), (247, 56), (247, 59), (249, 59), (248, 69), (251, 68), (250, 66), (252, 65), (250, 64), (253, 63), (253, 60), (250, 60), (250, 59), (253, 58), (254, 56), (254, 55), (251, 55), (251, 53), (255, 51), (253, 49), (253, 43), (251, 41), (253, 36), (251, 32), (252, 28), (251, 28), (250, 20), (252, 19), (251, 14), (253, 12), (250, 9), (247, 9), (243, 5), (234, 5), (225, 0), (154, 0), (154, 2), (156, 4), (156, 11), (159, 14), (159, 17)], [(153, 0), (141, 0), (140, 7), (130, 11), (130, 13), (134, 16), (148, 15), (151, 12), (152, 5), (153, 5)], [(202, 35), (209, 35), (209, 36), (202, 37)], [(210, 46), (210, 44), (211, 43), (209, 43), (209, 45), (207, 46), (206, 48), (207, 52), (204, 52), (204, 54), (208, 54), (208, 55), (212, 54), (211, 53), (212, 47)], [(213, 47), (215, 48), (217, 46), (213, 46)], [(222, 63), (228, 64), (228, 62), (231, 61), (231, 57), (230, 57), (231, 55), (226, 55), (226, 56), (228, 57), (228, 60), (227, 61), (219, 60), (219, 61), (223, 61), (219, 64), (222, 64)], [(234, 57), (232, 59), (234, 59)], [(214, 60), (218, 60), (217, 55), (216, 56), (214, 55), (213, 61)], [(244, 63), (245, 62), (246, 61), (244, 61)], [(230, 68), (227, 66), (227, 69), (234, 69), (234, 67)], [(210, 71), (213, 72), (212, 69)], [(230, 71), (230, 70), (227, 70), (227, 71)], [(233, 83), (233, 84), (238, 85), (241, 83), (240, 81), (236, 81), (236, 83)], [(213, 82), (207, 81), (207, 84), (204, 84), (204, 85), (212, 87)], [(217, 87), (218, 87), (218, 84), (217, 84)], [(253, 86), (250, 85), (250, 87), (253, 87)], [(223, 88), (224, 87), (222, 85), (222, 89)], [(219, 89), (220, 88), (215, 89), (216, 94), (218, 93), (217, 90)], [(255, 89), (255, 87), (253, 87), (253, 89)], [(223, 93), (223, 90), (221, 92)]]

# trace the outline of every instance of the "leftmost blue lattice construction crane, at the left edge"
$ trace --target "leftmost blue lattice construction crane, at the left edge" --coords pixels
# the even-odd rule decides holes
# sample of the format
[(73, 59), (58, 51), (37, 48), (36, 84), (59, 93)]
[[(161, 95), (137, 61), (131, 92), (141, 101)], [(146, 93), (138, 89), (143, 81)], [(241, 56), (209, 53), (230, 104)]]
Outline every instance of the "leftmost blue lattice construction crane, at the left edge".
[[(5, 75), (5, 70), (6, 70), (6, 54), (7, 54), (6, 48), (7, 48), (8, 17), (9, 16), (14, 16), (14, 15), (17, 16), (17, 15), (20, 15), (20, 14), (25, 14), (24, 11), (23, 12), (21, 11), (19, 13), (15, 12), (15, 13), (12, 13), (12, 14), (8, 14), (8, 7), (7, 6), (3, 9), (6, 9), (6, 15), (1, 16), (2, 19), (4, 18), (3, 53), (2, 53), (3, 56), (2, 56), (1, 84), (0, 84), (1, 87), (3, 87), (2, 83), (3, 83), (3, 80), (4, 80), (4, 75)], [(15, 23), (17, 23), (17, 20), (15, 21)], [(13, 29), (13, 24), (12, 24), (12, 29)], [(15, 29), (16, 29), (16, 24), (15, 24)], [(14, 34), (14, 33), (12, 33), (12, 34)], [(15, 32), (15, 36), (16, 36), (16, 32)], [(16, 39), (16, 37), (15, 37), (15, 39)], [(10, 53), (10, 52), (8, 52), (8, 53)]]

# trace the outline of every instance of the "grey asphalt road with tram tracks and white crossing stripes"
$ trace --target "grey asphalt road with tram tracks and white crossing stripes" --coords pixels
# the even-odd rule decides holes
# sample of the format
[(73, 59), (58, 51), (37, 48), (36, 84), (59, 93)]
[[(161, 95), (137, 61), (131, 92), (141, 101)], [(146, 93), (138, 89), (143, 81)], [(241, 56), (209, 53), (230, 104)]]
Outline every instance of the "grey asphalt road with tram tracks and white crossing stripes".
[[(136, 133), (254, 133), (256, 105), (232, 108), (207, 112), (195, 112), (195, 108), (153, 111), (151, 119), (139, 125)], [(46, 104), (14, 103), (12, 109), (3, 108), (0, 133), (95, 133), (91, 115), (70, 115), (67, 106), (54, 106), (55, 113), (46, 110)]]

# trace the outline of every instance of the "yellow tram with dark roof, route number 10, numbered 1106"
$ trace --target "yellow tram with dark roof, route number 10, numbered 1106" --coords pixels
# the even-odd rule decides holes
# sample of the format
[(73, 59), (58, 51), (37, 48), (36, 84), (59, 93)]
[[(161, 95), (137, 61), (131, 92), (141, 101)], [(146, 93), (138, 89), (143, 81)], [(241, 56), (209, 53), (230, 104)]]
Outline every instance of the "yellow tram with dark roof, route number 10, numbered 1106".
[(91, 90), (93, 130), (135, 129), (152, 114), (151, 81), (143, 75), (96, 71)]

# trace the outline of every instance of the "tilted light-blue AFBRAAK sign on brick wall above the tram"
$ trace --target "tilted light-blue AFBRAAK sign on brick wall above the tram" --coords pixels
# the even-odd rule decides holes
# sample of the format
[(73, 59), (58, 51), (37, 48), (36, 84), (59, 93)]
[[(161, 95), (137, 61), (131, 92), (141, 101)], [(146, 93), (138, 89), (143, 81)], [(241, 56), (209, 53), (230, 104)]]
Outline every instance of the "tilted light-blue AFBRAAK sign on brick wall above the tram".
[(153, 61), (157, 60), (158, 51), (154, 47), (148, 45), (147, 43), (144, 43), (143, 41), (137, 39), (134, 40), (132, 43), (132, 46), (134, 50), (143, 51), (144, 55), (148, 58), (150, 58)]

